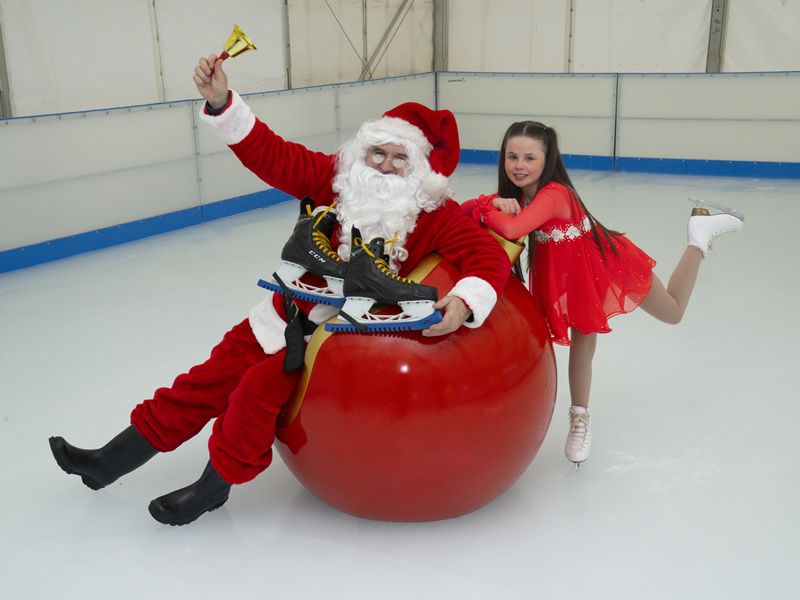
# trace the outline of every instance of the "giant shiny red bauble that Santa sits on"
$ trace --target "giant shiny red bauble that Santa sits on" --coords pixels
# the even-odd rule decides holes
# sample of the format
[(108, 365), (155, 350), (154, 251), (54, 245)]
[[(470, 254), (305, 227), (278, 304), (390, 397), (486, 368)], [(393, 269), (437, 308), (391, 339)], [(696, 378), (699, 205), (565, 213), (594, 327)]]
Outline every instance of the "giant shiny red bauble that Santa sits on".
[[(421, 278), (440, 297), (457, 279), (441, 261)], [(419, 280), (419, 279), (418, 279)], [(457, 517), (508, 489), (542, 444), (556, 368), (541, 310), (515, 277), (482, 327), (331, 334), (278, 427), (278, 452), (313, 494), (386, 521)]]

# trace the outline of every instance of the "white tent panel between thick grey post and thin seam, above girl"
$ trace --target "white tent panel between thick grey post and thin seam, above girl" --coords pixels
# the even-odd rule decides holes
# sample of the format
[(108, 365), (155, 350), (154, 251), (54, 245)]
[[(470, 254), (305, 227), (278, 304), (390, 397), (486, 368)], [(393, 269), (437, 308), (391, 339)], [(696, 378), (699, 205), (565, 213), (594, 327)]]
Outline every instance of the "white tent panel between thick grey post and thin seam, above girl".
[(569, 0), (451, 2), (448, 70), (564, 72)]

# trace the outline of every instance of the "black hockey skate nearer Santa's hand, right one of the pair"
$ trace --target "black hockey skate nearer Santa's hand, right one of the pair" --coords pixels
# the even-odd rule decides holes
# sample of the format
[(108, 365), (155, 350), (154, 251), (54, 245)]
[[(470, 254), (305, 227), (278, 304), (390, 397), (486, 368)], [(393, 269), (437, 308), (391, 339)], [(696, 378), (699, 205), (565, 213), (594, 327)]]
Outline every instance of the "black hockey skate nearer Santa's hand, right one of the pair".
[[(338, 316), (340, 322), (326, 323), (326, 331), (413, 331), (427, 329), (442, 320), (442, 313), (433, 308), (438, 299), (436, 288), (392, 273), (383, 245), (383, 238), (365, 244), (361, 233), (353, 228), (352, 252), (344, 280), (346, 301)], [(397, 305), (401, 312), (373, 314), (370, 308), (375, 303)]]

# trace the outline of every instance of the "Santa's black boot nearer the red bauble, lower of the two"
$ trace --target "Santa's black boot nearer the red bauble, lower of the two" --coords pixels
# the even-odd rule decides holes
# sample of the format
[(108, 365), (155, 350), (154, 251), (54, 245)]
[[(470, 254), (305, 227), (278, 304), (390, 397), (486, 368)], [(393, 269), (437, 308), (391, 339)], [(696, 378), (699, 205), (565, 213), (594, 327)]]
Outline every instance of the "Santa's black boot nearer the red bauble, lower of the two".
[(225, 504), (230, 491), (231, 484), (220, 477), (209, 461), (200, 479), (192, 485), (156, 498), (147, 509), (159, 523), (186, 525), (204, 512)]

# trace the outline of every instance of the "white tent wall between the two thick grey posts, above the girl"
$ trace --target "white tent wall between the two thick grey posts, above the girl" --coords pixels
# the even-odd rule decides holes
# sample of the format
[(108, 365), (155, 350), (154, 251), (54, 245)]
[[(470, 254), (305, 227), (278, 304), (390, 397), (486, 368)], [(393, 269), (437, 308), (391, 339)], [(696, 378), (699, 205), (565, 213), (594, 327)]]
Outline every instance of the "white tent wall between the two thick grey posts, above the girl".
[(451, 71), (704, 72), (711, 0), (452, 0)]

